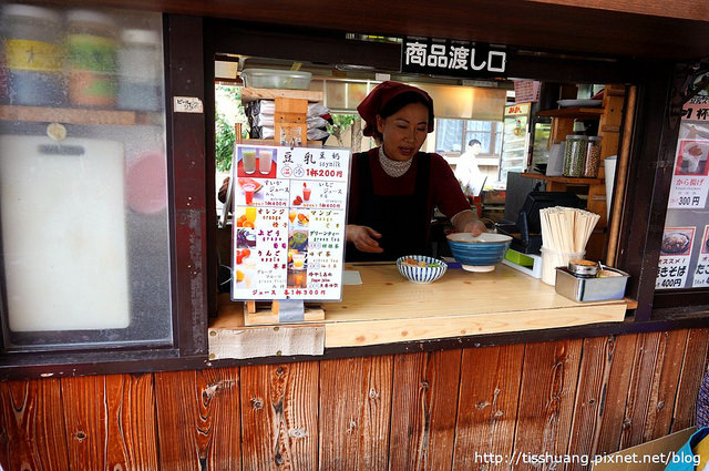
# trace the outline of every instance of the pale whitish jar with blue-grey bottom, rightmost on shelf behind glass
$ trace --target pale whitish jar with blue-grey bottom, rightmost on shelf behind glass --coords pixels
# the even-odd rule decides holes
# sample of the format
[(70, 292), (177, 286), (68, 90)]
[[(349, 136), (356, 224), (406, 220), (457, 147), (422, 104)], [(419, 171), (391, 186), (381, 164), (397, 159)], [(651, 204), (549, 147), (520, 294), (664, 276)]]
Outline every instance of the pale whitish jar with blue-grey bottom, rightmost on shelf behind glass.
[(121, 34), (119, 96), (123, 110), (162, 110), (162, 48), (153, 30), (130, 29)]

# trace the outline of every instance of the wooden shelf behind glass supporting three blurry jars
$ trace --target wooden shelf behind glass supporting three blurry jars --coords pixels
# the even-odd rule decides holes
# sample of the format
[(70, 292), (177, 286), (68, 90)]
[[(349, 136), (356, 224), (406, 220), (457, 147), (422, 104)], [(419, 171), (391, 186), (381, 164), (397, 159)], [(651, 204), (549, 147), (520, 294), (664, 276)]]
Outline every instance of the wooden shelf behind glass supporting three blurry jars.
[(0, 105), (0, 121), (134, 126), (160, 124), (162, 116), (158, 112)]

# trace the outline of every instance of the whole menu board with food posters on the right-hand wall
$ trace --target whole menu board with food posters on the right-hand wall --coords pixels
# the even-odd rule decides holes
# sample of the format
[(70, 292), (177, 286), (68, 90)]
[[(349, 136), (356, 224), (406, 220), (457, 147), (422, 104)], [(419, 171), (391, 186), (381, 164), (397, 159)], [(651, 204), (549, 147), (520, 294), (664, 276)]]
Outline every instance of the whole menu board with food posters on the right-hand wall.
[(656, 289), (709, 287), (709, 96), (682, 109)]

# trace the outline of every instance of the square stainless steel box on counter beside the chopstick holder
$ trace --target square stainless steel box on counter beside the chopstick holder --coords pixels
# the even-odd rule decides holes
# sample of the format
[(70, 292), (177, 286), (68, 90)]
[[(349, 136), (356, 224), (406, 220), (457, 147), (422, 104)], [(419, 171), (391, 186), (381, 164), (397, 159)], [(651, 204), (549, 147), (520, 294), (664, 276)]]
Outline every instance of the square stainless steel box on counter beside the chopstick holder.
[(607, 276), (584, 278), (575, 276), (566, 267), (556, 268), (556, 293), (575, 301), (602, 301), (621, 299), (628, 274), (616, 268), (604, 268)]

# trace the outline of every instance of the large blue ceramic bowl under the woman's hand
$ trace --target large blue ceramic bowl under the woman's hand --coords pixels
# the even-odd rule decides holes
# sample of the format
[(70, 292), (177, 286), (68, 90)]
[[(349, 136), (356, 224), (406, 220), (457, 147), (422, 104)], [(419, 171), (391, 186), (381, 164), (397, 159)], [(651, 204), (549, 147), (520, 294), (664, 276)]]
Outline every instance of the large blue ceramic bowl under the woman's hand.
[(483, 233), (473, 237), (467, 233), (448, 235), (455, 262), (469, 272), (492, 272), (505, 257), (512, 237), (504, 234)]

